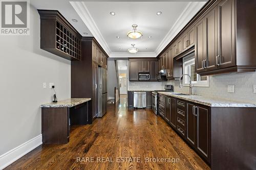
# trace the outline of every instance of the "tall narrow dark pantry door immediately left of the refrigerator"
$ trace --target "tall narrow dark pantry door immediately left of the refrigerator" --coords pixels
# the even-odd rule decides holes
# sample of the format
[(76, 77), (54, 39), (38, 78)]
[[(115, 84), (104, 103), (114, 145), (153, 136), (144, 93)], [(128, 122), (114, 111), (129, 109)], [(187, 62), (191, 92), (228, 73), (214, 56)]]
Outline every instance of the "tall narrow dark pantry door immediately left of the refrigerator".
[(93, 63), (93, 118), (98, 116), (98, 64)]

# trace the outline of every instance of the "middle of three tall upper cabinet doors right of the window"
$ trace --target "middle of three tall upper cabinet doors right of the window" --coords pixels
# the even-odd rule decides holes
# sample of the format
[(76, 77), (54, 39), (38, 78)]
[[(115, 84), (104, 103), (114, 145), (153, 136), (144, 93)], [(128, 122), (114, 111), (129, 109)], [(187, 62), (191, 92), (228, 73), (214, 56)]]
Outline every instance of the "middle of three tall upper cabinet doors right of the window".
[(206, 39), (207, 53), (205, 67), (207, 71), (217, 69), (217, 7), (212, 9), (206, 16)]

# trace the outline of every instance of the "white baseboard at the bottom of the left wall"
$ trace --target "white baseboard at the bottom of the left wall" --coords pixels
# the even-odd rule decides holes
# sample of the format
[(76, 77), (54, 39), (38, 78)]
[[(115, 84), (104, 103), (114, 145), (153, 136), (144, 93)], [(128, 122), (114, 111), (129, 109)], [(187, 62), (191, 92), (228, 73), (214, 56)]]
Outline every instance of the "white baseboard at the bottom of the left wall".
[(0, 169), (4, 169), (6, 166), (12, 164), (19, 158), (38, 147), (40, 144), (42, 144), (41, 134), (23, 144), (20, 144), (18, 147), (8, 151), (7, 153), (0, 155)]

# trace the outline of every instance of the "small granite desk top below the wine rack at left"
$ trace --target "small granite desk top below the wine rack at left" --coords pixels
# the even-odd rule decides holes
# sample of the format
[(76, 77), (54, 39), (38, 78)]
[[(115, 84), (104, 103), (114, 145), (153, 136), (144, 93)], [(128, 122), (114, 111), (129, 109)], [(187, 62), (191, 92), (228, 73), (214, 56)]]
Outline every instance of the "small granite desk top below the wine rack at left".
[(71, 98), (63, 101), (58, 101), (57, 103), (48, 103), (41, 105), (40, 107), (74, 107), (84, 102), (90, 101), (91, 98)]

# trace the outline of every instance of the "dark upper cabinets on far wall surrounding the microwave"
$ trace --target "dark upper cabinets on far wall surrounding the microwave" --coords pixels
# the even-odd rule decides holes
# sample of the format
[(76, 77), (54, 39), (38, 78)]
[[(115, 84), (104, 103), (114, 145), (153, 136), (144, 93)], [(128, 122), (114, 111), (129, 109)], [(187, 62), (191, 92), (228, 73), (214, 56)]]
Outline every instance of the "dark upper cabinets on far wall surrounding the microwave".
[(129, 80), (139, 81), (139, 73), (150, 74), (150, 80), (143, 81), (157, 81), (157, 60), (155, 58), (129, 59)]

